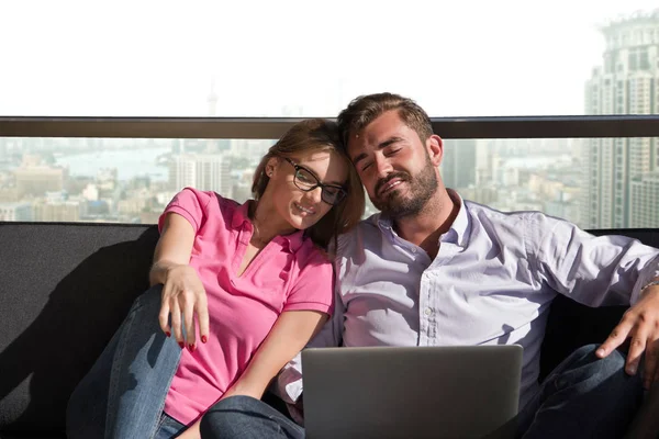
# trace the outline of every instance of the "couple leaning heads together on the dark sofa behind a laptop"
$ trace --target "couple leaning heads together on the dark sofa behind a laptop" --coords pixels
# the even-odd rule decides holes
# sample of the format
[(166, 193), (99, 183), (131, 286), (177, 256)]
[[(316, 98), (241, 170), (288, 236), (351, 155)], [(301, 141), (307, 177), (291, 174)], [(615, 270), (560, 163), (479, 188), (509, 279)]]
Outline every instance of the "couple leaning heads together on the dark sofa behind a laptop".
[[(302, 438), (260, 398), (275, 380), (302, 423), (305, 346), (488, 344), (524, 348), (520, 437), (622, 436), (659, 376), (659, 250), (462, 200), (443, 153), (414, 101), (364, 95), (291, 127), (254, 200), (178, 193), (153, 286), (71, 395), (68, 436)], [(365, 221), (361, 184), (381, 211)], [(556, 294), (632, 307), (538, 383)]]

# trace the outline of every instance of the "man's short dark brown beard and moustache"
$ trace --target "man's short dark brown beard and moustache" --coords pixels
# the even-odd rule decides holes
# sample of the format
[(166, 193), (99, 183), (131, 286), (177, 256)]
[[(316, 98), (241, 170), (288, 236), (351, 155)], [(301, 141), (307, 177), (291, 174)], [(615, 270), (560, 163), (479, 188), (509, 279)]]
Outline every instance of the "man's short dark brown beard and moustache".
[(407, 183), (410, 190), (405, 195), (394, 189), (383, 198), (371, 199), (373, 205), (392, 219), (418, 214), (437, 191), (435, 167), (429, 157), (426, 157), (424, 168), (414, 177), (407, 172), (392, 172), (386, 179), (378, 181), (376, 193), (394, 178)]

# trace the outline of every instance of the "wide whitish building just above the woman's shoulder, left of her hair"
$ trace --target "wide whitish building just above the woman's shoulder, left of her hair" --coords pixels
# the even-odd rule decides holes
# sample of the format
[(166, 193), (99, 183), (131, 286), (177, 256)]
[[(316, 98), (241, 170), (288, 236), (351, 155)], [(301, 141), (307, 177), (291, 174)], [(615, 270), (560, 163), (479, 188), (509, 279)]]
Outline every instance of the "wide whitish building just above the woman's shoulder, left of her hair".
[(222, 155), (186, 154), (171, 160), (169, 182), (172, 190), (192, 187), (232, 196), (230, 164)]

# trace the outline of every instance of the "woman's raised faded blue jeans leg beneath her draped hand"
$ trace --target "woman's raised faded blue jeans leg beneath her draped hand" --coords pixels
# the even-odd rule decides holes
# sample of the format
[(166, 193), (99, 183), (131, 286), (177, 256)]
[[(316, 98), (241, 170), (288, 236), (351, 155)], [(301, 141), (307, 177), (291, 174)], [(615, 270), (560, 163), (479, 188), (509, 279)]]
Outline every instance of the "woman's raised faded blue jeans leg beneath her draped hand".
[(153, 438), (181, 349), (158, 324), (161, 285), (135, 300), (66, 413), (67, 437)]

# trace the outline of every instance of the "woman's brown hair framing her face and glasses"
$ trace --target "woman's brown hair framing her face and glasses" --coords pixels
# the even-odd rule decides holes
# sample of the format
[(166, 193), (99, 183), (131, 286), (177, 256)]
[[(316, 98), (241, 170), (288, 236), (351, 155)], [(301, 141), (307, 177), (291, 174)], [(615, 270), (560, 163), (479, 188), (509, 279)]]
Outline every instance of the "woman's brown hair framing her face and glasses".
[(308, 236), (314, 244), (323, 249), (327, 249), (331, 239), (353, 228), (364, 215), (365, 196), (364, 188), (359, 176), (348, 157), (344, 144), (340, 139), (338, 126), (336, 123), (324, 119), (309, 119), (293, 125), (275, 145), (270, 147), (268, 154), (264, 156), (260, 164), (254, 172), (254, 182), (252, 193), (258, 201), (270, 178), (266, 175), (266, 165), (273, 157), (293, 158), (299, 154), (314, 151), (336, 153), (345, 162), (348, 170), (348, 178), (344, 188), (347, 191), (346, 198), (319, 219), (313, 226), (306, 229)]

